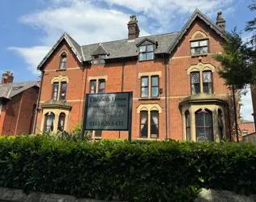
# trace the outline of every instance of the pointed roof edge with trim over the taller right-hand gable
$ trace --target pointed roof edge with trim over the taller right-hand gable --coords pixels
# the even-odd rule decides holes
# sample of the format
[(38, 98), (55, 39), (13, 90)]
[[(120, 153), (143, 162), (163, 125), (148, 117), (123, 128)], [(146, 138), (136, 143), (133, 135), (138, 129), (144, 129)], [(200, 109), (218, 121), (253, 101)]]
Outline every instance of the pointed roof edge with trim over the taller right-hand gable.
[(173, 49), (177, 46), (179, 41), (186, 34), (186, 31), (190, 28), (191, 24), (197, 18), (202, 19), (204, 23), (207, 23), (207, 25), (209, 25), (218, 35), (225, 39), (224, 32), (220, 29), (220, 27), (213, 23), (211, 19), (208, 19), (207, 16), (204, 15), (201, 11), (196, 9), (191, 15), (190, 19), (186, 22), (185, 26), (181, 29), (181, 32), (175, 39), (175, 42), (169, 46), (167, 53), (172, 53)]

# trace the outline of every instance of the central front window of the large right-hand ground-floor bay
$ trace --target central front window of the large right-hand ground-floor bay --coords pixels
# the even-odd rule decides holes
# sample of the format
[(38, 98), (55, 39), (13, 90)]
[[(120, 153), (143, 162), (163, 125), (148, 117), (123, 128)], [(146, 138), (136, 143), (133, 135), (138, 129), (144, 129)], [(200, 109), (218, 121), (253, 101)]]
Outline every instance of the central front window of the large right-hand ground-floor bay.
[(202, 108), (195, 112), (196, 140), (214, 141), (212, 131), (212, 112)]

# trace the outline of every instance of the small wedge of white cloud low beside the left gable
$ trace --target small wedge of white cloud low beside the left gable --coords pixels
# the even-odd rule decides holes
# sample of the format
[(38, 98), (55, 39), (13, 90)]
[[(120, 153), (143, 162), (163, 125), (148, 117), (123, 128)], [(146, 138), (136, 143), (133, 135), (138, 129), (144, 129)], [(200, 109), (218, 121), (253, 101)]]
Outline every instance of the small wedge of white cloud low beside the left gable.
[(50, 47), (48, 46), (34, 46), (32, 48), (18, 48), (9, 47), (8, 50), (15, 51), (21, 57), (23, 57), (28, 64), (28, 69), (32, 71), (33, 74), (39, 75), (40, 72), (36, 70), (37, 65), (49, 52)]

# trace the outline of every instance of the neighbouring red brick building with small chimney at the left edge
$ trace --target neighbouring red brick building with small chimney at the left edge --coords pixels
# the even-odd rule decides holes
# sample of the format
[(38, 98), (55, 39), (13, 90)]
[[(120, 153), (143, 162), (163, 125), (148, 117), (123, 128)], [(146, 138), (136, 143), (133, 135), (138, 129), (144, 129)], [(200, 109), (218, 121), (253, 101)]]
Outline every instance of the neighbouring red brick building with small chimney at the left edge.
[(0, 85), (0, 136), (32, 133), (38, 99), (38, 82), (13, 82), (13, 74), (2, 74)]

